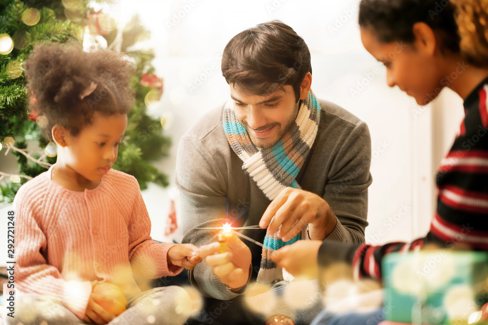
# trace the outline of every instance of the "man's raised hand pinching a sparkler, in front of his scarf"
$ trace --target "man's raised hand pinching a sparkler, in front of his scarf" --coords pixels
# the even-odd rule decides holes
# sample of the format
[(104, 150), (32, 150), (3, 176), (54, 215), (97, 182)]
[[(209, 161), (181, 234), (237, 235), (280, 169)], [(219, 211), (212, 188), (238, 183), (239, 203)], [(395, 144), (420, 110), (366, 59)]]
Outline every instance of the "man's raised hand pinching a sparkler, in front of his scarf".
[(311, 239), (324, 239), (336, 225), (335, 215), (325, 200), (312, 192), (287, 187), (269, 204), (259, 222), (268, 234), (278, 231), (284, 242), (295, 237), (308, 224), (313, 224)]

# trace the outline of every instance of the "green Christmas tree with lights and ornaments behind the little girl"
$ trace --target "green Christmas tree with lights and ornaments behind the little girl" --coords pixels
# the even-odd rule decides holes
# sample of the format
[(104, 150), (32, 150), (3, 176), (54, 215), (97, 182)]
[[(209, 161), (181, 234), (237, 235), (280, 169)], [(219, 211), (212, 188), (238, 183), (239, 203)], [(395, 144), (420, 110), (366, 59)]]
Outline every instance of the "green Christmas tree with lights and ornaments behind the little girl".
[(164, 119), (146, 113), (148, 101), (161, 97), (163, 80), (154, 75), (152, 51), (131, 50), (141, 33), (147, 34), (137, 17), (117, 29), (113, 19), (86, 0), (0, 0), (0, 154), (13, 153), (19, 167), (18, 173), (8, 174), (0, 166), (0, 202), (12, 202), (21, 184), (56, 162), (55, 146), (41, 136), (43, 121), (29, 114), (22, 70), (33, 46), (46, 41), (81, 45), (93, 38), (136, 62), (136, 101), (113, 168), (134, 175), (142, 190), (148, 182), (168, 185), (167, 176), (151, 162), (167, 155), (171, 140), (163, 136)]

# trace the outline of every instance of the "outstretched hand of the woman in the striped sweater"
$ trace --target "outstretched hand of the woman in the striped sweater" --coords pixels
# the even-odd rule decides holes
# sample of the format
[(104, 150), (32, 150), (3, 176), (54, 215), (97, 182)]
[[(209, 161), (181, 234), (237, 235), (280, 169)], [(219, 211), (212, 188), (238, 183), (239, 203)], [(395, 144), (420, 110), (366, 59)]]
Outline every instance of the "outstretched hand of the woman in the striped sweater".
[(317, 255), (322, 245), (320, 240), (299, 240), (271, 253), (271, 260), (293, 276), (316, 279), (319, 275)]

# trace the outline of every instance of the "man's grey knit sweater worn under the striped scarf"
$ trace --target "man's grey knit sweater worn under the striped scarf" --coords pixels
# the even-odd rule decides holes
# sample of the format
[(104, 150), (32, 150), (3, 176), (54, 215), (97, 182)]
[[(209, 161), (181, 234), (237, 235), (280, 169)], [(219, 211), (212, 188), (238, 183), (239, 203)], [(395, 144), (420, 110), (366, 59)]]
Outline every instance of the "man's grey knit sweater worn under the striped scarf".
[[(297, 181), (303, 190), (323, 197), (337, 216), (337, 226), (325, 240), (363, 243), (367, 188), (372, 182), (369, 131), (366, 123), (345, 109), (327, 101), (320, 101), (320, 105), (318, 134)], [(222, 113), (223, 107), (204, 115), (180, 140), (176, 184), (181, 193), (183, 243), (201, 246), (216, 241), (217, 230), (194, 228), (219, 227), (226, 216), (238, 220), (235, 227), (257, 225), (270, 203), (229, 146)], [(262, 243), (265, 230), (243, 233)], [(255, 277), (262, 249), (244, 242), (252, 252)], [(242, 294), (226, 289), (205, 262), (190, 272), (190, 282), (204, 296), (216, 299)]]

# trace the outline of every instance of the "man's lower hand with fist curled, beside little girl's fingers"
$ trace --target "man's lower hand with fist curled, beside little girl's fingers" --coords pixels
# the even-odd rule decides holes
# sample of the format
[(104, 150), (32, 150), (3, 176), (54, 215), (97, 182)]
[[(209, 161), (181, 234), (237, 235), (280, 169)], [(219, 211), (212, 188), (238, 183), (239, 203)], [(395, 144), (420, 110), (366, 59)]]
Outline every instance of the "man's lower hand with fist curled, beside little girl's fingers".
[(198, 255), (205, 258), (206, 264), (212, 267), (224, 285), (239, 291), (249, 279), (251, 250), (235, 234), (226, 234), (225, 237), (227, 252), (219, 254), (220, 243), (212, 243), (201, 246)]

